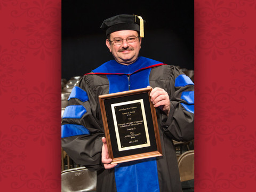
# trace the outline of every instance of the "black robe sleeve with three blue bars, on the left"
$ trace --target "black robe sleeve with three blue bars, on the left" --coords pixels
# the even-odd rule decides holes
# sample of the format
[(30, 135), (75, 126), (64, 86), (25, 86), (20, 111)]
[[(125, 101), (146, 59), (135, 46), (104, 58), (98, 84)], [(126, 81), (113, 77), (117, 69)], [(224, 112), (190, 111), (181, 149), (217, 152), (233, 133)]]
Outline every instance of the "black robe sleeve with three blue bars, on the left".
[[(101, 138), (105, 137), (105, 134), (102, 122), (99, 121), (98, 95), (95, 93), (93, 86), (93, 75), (82, 77), (77, 87), (73, 91), (79, 93), (73, 94), (75, 97), (68, 101), (68, 107), (83, 106), (86, 113), (80, 118), (70, 118), (68, 116), (66, 118), (63, 115), (61, 145), (77, 164), (84, 165), (91, 171), (97, 171), (103, 169)], [(83, 98), (86, 94), (88, 100), (81, 101), (79, 97)], [(68, 107), (65, 110), (68, 110)], [(70, 113), (70, 111), (68, 112)], [(77, 113), (76, 111), (71, 112)]]

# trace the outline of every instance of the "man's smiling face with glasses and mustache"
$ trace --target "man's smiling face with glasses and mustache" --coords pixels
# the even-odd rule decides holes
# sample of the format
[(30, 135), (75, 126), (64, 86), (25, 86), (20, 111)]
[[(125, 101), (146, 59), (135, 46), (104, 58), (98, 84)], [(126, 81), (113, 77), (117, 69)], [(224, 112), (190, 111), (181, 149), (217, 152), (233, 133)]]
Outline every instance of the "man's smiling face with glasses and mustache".
[(109, 51), (113, 54), (115, 60), (118, 63), (123, 65), (130, 65), (138, 59), (141, 38), (138, 37), (136, 41), (132, 43), (127, 43), (126, 39), (124, 39), (127, 37), (137, 36), (139, 36), (138, 32), (134, 30), (115, 31), (110, 34), (110, 41), (113, 41), (117, 38), (123, 39), (123, 43), (121, 45), (114, 45), (113, 43), (109, 42), (108, 39), (106, 40), (106, 45), (108, 46)]

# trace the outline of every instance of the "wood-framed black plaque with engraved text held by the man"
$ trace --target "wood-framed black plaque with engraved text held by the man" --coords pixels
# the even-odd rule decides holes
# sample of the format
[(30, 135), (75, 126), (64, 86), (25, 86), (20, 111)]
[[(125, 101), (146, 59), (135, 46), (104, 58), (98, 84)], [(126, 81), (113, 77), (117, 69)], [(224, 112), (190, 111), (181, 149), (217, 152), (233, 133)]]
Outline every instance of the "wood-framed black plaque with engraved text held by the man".
[(99, 96), (111, 164), (162, 156), (151, 90), (149, 87)]

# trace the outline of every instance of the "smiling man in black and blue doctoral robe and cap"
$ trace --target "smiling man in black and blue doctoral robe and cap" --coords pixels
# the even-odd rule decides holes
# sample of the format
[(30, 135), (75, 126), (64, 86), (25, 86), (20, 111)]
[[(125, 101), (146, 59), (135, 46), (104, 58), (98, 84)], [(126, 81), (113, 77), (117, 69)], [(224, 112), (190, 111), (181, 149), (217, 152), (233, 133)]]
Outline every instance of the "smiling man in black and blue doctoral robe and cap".
[[(174, 66), (139, 57), (144, 22), (137, 15), (103, 21), (115, 60), (85, 74), (63, 114), (62, 147), (78, 164), (97, 171), (97, 191), (181, 190), (173, 139), (194, 139), (194, 84)], [(110, 164), (99, 95), (151, 86), (163, 156)]]

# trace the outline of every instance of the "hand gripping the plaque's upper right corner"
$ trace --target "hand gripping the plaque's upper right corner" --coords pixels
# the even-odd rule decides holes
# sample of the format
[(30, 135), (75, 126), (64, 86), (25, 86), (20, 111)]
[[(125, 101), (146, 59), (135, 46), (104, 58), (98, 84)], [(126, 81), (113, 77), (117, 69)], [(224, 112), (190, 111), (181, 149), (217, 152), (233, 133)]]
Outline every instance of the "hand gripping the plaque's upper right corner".
[(159, 107), (168, 116), (170, 112), (170, 99), (168, 93), (162, 88), (155, 87), (151, 91), (150, 97), (154, 107)]

